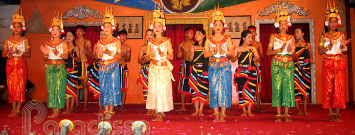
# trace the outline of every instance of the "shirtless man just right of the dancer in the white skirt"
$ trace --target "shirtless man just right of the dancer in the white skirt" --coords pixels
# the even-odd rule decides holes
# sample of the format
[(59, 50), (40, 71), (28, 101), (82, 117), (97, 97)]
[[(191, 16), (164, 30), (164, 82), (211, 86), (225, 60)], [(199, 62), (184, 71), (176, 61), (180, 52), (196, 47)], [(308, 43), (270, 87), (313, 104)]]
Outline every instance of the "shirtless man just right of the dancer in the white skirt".
[(189, 50), (191, 45), (194, 43), (193, 35), (194, 30), (191, 27), (187, 27), (185, 29), (185, 34), (181, 36), (185, 36), (185, 40), (181, 43), (179, 43), (178, 46), (178, 53), (176, 53), (176, 59), (181, 59), (183, 58), (183, 62), (181, 63), (181, 72), (180, 72), (180, 81), (179, 81), (179, 89), (178, 92), (181, 93), (181, 103), (182, 106), (180, 109), (177, 111), (182, 111), (186, 110), (185, 107), (185, 100), (186, 100), (186, 95), (191, 95), (191, 87), (188, 84), (189, 81), (189, 75), (190, 75), (190, 61), (189, 59)]

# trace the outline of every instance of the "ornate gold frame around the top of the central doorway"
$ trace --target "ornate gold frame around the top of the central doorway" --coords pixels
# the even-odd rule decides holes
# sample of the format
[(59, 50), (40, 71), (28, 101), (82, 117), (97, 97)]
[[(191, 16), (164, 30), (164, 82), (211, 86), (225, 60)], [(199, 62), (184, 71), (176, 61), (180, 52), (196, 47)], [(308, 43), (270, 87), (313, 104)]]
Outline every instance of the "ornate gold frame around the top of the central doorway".
[[(203, 25), (207, 35), (210, 35), (210, 13), (175, 13), (165, 14), (166, 25)], [(152, 13), (144, 14), (145, 30), (149, 29)]]

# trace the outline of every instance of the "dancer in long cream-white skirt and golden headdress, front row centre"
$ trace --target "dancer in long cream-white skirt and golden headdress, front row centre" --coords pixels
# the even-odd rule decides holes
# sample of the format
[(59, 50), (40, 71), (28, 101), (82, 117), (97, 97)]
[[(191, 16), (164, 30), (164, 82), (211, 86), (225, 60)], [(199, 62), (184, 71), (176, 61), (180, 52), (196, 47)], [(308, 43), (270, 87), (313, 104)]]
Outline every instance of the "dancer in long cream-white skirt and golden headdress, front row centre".
[(170, 38), (163, 36), (166, 31), (164, 10), (159, 5), (154, 10), (152, 26), (155, 38), (148, 39), (146, 60), (150, 61), (149, 65), (149, 85), (146, 109), (154, 109), (156, 118), (152, 121), (162, 122), (164, 120), (164, 112), (174, 109), (172, 100), (172, 84), (174, 78), (172, 69), (174, 68), (169, 60), (174, 59)]

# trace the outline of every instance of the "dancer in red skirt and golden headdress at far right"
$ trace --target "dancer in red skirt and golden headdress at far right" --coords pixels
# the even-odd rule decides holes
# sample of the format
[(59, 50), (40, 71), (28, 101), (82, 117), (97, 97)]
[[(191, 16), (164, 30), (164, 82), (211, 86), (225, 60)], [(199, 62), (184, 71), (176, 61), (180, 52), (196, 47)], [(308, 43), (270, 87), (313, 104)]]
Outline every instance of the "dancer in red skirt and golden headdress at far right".
[[(337, 7), (330, 6), (325, 13), (325, 33), (321, 34), (318, 47), (318, 54), (325, 54), (322, 65), (323, 109), (328, 109), (329, 121), (342, 122), (340, 109), (345, 109), (346, 103), (346, 63), (343, 54), (346, 54), (346, 45), (351, 39), (345, 40), (344, 34), (337, 32), (338, 26), (342, 26)], [(336, 109), (336, 113), (332, 108)]]

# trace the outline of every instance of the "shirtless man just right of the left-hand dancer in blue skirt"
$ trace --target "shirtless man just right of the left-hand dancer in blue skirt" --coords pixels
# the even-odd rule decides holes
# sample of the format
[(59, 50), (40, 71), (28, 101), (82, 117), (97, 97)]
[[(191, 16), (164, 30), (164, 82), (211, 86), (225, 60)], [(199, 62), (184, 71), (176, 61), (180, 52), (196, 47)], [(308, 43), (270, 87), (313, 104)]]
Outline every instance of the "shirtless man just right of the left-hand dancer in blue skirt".
[[(131, 50), (130, 46), (124, 43), (127, 39), (127, 31), (122, 30), (117, 33), (121, 40), (122, 44), (122, 59), (118, 61), (120, 63), (120, 75), (121, 75), (121, 97), (122, 97), (122, 105), (120, 106), (120, 110), (125, 110), (123, 108), (124, 102), (126, 101), (126, 92), (128, 90), (128, 68), (127, 63), (130, 61)], [(117, 109), (117, 107), (116, 107)]]

